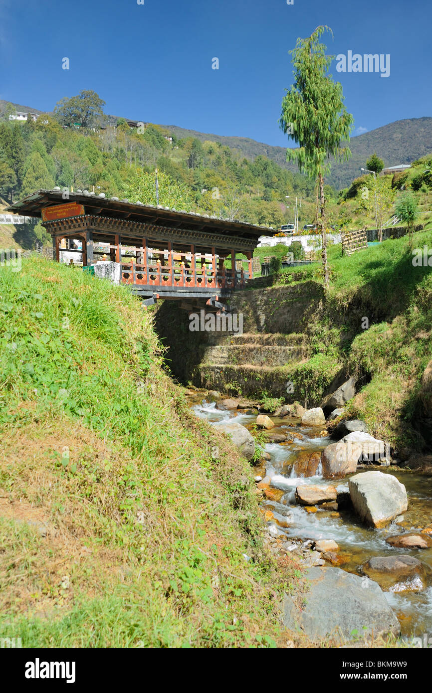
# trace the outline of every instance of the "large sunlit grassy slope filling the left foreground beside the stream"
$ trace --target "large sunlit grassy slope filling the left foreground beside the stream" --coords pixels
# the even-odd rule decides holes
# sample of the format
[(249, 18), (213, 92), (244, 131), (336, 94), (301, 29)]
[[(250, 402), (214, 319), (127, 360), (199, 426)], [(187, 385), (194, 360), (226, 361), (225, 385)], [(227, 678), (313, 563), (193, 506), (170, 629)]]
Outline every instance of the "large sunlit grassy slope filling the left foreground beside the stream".
[(137, 299), (30, 260), (0, 270), (0, 315), (1, 634), (273, 644), (295, 564), (276, 572), (248, 464), (187, 410)]

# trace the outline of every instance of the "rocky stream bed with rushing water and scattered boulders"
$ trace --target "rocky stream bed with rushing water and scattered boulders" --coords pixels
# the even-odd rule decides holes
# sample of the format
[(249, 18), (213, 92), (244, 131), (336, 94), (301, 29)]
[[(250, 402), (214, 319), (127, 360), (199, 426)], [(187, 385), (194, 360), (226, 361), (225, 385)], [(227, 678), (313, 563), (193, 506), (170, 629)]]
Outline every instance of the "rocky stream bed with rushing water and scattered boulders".
[[(236, 435), (241, 433), (236, 424), (256, 432), (259, 412), (253, 406), (225, 407), (216, 393), (204, 390), (187, 390), (187, 398), (197, 416), (225, 432), (233, 424)], [(300, 416), (269, 414), (258, 421), (262, 451), (254, 471), (267, 541), (273, 554), (296, 556), (310, 592), (300, 616), (286, 598), (285, 625), (310, 637), (338, 629), (346, 638), (361, 623), (376, 632), (400, 632), (406, 642), (432, 635), (432, 477), (390, 464), (384, 446), (377, 462), (354, 464), (354, 469), (348, 465), (334, 479), (327, 469), (325, 478), (322, 453), (330, 445), (335, 448), (325, 424), (308, 425), (308, 416), (301, 421)], [(390, 475), (383, 486), (390, 483), (393, 495), (408, 500), (407, 509), (390, 521), (381, 522), (380, 508), (374, 509), (378, 519), (371, 520), (353, 507), (354, 476), (371, 471)], [(368, 478), (372, 486), (378, 479), (381, 484), (376, 476), (361, 481)], [(403, 507), (403, 498), (397, 502)], [(333, 570), (325, 570), (329, 567)]]

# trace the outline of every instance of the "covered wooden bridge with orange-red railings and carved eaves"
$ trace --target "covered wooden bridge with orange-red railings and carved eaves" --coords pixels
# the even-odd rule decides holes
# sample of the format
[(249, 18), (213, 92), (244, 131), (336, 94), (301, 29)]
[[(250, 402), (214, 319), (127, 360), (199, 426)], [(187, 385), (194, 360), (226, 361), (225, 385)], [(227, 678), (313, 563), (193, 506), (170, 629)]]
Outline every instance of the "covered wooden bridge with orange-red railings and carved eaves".
[(218, 308), (233, 290), (244, 288), (253, 276), (259, 236), (275, 233), (245, 222), (60, 188), (27, 195), (9, 211), (42, 219), (57, 261), (84, 267), (115, 263), (119, 281), (148, 302), (182, 299), (184, 308), (197, 301)]

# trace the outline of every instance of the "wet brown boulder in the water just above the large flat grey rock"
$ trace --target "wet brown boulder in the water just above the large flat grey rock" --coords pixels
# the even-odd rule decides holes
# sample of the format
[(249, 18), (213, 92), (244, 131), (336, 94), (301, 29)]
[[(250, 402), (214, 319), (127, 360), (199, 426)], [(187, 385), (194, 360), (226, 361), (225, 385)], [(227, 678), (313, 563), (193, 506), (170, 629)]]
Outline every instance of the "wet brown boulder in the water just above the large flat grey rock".
[(374, 556), (361, 566), (361, 570), (386, 591), (404, 592), (424, 588), (424, 565), (414, 556)]

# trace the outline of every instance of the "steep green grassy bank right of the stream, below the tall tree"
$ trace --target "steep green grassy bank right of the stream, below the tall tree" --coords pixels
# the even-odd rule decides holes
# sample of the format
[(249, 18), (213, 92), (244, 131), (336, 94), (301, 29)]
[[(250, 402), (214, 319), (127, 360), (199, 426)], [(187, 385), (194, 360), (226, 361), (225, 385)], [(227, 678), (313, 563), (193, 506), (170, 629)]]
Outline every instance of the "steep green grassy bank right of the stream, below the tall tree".
[[(424, 245), (432, 249), (431, 222), (412, 245), (405, 236), (348, 257), (340, 245), (329, 247), (329, 295), (304, 326), (312, 379), (321, 378), (328, 359), (347, 365), (361, 385), (349, 414), (365, 419), (402, 455), (424, 446), (413, 423), (424, 414), (420, 380), (432, 358), (432, 267), (412, 262), (412, 249)], [(318, 263), (295, 267), (279, 274), (275, 286), (321, 282), (321, 275)]]

